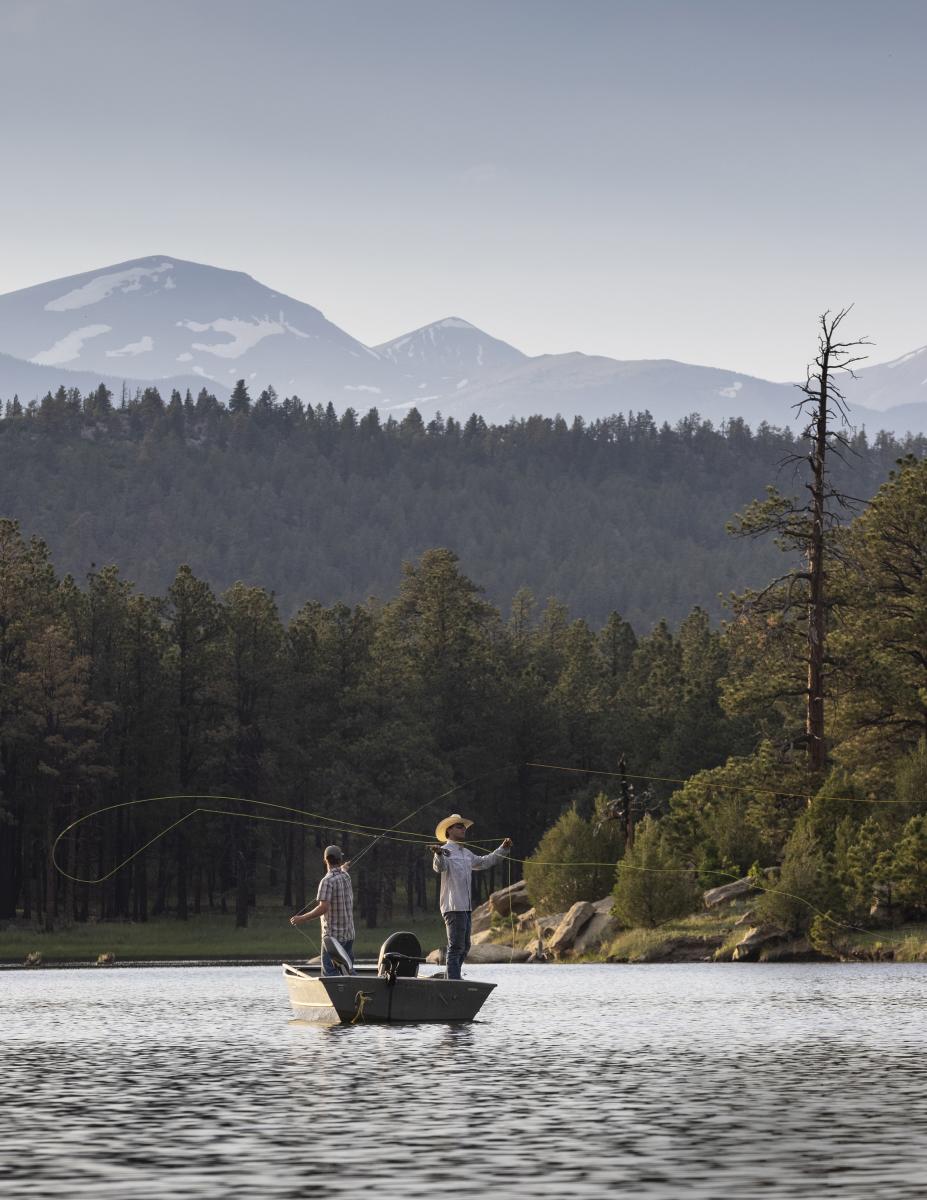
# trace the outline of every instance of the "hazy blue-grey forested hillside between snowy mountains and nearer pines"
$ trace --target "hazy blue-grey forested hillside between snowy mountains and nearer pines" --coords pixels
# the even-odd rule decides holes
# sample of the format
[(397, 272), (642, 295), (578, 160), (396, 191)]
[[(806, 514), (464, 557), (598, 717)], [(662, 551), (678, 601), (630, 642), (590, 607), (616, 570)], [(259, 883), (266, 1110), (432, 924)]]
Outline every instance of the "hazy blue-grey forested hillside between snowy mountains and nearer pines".
[[(925, 443), (854, 445), (838, 482), (868, 497)], [(414, 409), (337, 415), (271, 390), (252, 401), (244, 384), (229, 408), (205, 390), (114, 406), (102, 388), (61, 389), (6, 406), (0, 514), (43, 538), (59, 570), (114, 563), (148, 593), (187, 563), (219, 590), (259, 583), (288, 617), (306, 600), (388, 598), (403, 560), (445, 546), (503, 610), (528, 588), (644, 632), (696, 604), (717, 613), (719, 593), (770, 576), (775, 550), (725, 523), (794, 449), (789, 431), (658, 427), (647, 413), (425, 425)]]

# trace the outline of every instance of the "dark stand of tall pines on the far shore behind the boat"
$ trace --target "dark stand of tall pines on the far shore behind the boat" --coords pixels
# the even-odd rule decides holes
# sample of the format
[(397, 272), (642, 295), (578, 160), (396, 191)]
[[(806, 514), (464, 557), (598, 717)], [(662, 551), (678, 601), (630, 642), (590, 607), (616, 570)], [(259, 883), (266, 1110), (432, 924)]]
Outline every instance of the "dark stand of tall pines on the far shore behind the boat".
[[(448, 550), (407, 564), (385, 604), (313, 600), (283, 622), (265, 589), (216, 595), (189, 566), (160, 596), (112, 566), (59, 577), (46, 544), (2, 520), (0, 916), (49, 929), (234, 911), (245, 924), (262, 896), (301, 906), (318, 847), (369, 844), (357, 826), (423, 809), (411, 829), (426, 839), (449, 803), (430, 799), (457, 785), (480, 839), (510, 834), (527, 853), (597, 791), (530, 762), (609, 769), (628, 752), (688, 775), (746, 750), (722, 671), (700, 610), (642, 638), (617, 613), (593, 629), (525, 592), (502, 614)], [(165, 796), (215, 799), (127, 803)], [(211, 811), (110, 874), (197, 808)], [(61, 839), (60, 874), (55, 839), (96, 809), (109, 811)], [(419, 840), (366, 853), (367, 923), (431, 906), (429, 864)]]

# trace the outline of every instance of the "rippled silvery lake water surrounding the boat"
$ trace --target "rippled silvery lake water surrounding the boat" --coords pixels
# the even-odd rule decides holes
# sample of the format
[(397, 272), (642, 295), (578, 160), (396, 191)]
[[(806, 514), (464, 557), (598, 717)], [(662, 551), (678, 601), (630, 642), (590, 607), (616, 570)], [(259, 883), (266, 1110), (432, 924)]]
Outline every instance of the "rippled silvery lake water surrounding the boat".
[(927, 967), (510, 966), (317, 1028), (279, 968), (0, 973), (0, 1194), (927, 1195)]

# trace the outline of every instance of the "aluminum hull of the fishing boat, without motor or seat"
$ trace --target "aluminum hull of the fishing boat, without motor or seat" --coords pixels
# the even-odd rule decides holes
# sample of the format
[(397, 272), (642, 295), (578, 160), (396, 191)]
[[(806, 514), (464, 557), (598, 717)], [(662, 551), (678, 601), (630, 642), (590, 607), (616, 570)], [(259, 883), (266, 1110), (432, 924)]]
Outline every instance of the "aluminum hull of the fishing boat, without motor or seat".
[(283, 964), (293, 1015), (321, 1025), (472, 1021), (495, 983), (423, 976), (316, 976)]

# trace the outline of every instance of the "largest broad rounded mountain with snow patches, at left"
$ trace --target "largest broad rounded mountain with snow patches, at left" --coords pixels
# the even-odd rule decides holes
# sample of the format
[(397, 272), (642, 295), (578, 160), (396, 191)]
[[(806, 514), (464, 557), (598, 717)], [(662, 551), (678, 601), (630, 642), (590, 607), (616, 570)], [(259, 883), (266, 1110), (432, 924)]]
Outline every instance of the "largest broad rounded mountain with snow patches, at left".
[[(379, 396), (384, 374), (393, 376), (390, 364), (317, 308), (241, 271), (167, 254), (0, 296), (0, 352), (55, 378), (61, 371), (143, 382), (190, 374), (198, 386), (220, 388), (244, 378), (342, 408), (352, 391)], [(10, 390), (2, 374), (0, 383)]]

